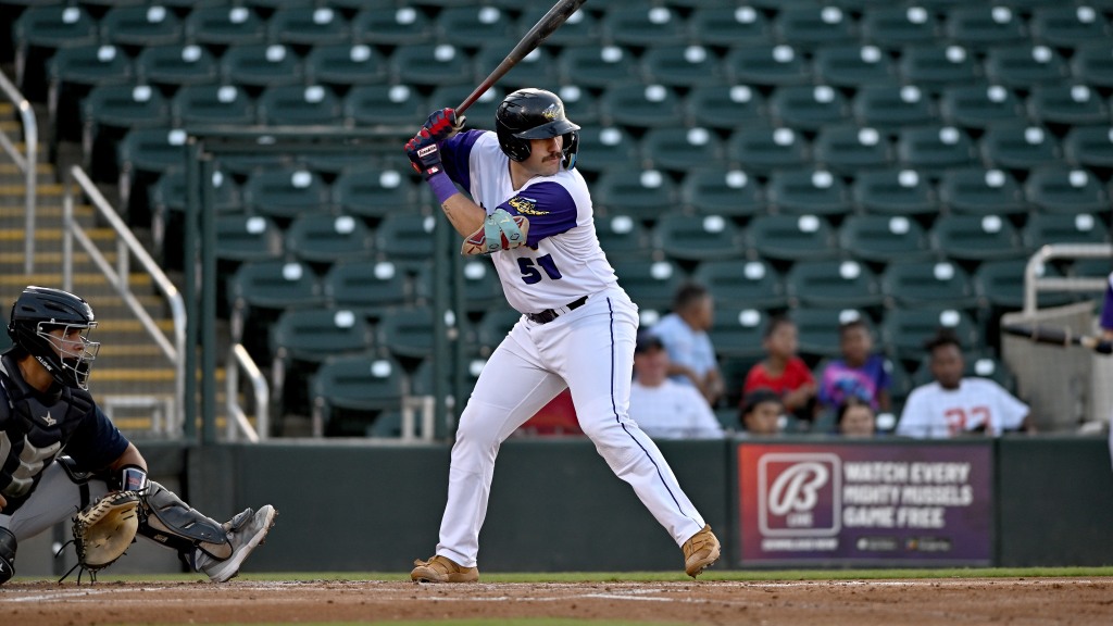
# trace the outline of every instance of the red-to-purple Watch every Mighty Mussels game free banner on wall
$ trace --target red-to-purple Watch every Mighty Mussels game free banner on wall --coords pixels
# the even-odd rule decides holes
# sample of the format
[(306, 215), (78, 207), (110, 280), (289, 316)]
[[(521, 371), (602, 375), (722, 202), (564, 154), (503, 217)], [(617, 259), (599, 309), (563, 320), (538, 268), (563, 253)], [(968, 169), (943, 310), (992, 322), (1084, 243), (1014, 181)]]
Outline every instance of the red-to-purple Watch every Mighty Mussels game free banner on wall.
[(741, 564), (991, 565), (991, 446), (739, 443)]

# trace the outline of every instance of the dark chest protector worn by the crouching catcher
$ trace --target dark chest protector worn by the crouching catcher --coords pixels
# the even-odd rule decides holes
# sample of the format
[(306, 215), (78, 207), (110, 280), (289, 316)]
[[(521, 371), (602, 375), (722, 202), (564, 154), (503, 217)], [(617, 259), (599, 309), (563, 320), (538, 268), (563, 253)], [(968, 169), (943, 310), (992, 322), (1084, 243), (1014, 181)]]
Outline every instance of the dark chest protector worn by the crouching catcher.
[(92, 409), (85, 391), (61, 388), (43, 398), (23, 381), (19, 366), (0, 359), (0, 493), (11, 515), (30, 496), (42, 469)]

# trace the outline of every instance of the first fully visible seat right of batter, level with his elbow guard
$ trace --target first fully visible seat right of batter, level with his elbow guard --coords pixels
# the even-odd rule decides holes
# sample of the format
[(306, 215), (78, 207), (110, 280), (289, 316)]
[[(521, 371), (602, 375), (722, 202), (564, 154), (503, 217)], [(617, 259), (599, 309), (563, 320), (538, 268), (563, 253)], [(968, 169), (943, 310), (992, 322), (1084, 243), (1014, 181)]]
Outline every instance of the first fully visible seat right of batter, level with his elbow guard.
[(738, 228), (721, 215), (669, 212), (657, 219), (652, 235), (653, 247), (669, 258), (721, 261), (742, 256)]

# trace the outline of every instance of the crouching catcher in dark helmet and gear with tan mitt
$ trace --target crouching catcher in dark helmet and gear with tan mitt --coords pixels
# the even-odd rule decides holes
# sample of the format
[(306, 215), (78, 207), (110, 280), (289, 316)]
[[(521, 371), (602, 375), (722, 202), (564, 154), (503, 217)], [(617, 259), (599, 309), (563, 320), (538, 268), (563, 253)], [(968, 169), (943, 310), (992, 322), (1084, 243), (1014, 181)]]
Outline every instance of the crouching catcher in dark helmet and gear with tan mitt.
[(220, 524), (147, 478), (142, 454), (88, 391), (96, 325), (89, 303), (60, 290), (29, 286), (12, 307), (13, 345), (0, 355), (0, 585), (14, 576), (19, 541), (67, 520), (76, 567), (91, 576), (142, 536), (214, 583), (230, 579), (277, 511), (248, 508)]

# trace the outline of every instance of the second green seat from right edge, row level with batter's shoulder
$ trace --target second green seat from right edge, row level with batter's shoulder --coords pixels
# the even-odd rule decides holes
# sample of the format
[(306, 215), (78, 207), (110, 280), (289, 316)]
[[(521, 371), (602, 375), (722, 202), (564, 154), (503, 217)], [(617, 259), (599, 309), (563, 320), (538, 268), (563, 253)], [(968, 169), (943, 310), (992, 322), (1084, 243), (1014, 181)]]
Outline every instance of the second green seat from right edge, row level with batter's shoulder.
[(981, 167), (944, 172), (939, 200), (953, 213), (974, 215), (1021, 214), (1028, 209), (1015, 177), (1001, 169)]

